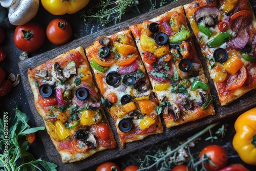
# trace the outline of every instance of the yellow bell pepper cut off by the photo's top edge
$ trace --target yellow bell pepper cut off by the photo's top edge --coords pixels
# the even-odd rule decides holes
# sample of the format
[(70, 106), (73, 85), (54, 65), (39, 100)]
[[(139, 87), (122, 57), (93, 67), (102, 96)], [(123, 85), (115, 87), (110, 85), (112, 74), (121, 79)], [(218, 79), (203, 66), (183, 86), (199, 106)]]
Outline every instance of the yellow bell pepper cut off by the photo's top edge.
[(87, 6), (90, 0), (41, 0), (42, 6), (53, 15), (73, 14)]

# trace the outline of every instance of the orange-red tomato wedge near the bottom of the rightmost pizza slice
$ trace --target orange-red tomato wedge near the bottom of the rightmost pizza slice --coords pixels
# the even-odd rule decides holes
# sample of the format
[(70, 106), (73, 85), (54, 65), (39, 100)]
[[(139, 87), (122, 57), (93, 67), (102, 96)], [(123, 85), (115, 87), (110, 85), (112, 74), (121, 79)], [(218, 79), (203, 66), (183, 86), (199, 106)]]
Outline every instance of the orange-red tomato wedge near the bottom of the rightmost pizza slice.
[(247, 79), (247, 72), (243, 66), (238, 72), (234, 73), (227, 79), (227, 90), (234, 90), (243, 86)]

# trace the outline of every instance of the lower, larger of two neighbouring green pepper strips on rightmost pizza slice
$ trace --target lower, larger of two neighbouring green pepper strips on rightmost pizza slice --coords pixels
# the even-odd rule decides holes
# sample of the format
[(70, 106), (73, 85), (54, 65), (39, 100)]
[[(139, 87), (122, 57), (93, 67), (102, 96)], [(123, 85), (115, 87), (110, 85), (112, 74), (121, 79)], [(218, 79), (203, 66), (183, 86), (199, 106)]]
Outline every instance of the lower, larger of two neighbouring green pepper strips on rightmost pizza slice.
[(231, 37), (231, 34), (227, 32), (221, 32), (214, 39), (207, 41), (206, 45), (209, 48), (216, 48), (224, 44), (224, 42), (227, 42)]

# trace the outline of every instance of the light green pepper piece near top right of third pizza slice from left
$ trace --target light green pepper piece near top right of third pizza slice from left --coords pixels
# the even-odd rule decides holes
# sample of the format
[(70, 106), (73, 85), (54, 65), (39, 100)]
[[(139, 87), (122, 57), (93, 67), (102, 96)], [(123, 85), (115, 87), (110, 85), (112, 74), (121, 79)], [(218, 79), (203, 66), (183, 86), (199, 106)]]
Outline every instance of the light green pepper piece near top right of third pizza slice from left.
[(170, 44), (177, 44), (177, 42), (186, 40), (188, 37), (190, 37), (189, 30), (186, 29), (184, 25), (181, 26), (181, 30), (177, 32), (173, 36), (169, 36), (169, 43)]

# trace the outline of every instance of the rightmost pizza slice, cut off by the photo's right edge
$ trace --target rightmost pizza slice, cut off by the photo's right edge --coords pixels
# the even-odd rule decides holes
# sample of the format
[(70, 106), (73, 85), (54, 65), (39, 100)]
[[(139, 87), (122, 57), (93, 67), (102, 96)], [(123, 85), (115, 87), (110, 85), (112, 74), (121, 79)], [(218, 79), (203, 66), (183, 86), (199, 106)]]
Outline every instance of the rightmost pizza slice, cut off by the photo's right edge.
[(256, 89), (256, 20), (248, 0), (184, 6), (221, 105)]

